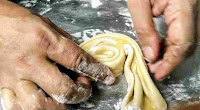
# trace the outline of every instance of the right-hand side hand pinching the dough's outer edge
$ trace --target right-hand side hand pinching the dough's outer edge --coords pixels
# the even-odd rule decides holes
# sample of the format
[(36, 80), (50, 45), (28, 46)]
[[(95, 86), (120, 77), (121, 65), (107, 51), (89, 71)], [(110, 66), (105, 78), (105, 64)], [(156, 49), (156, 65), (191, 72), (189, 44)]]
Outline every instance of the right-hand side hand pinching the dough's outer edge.
[[(128, 0), (134, 29), (149, 70), (163, 79), (184, 60), (196, 45), (196, 0)], [(154, 28), (153, 16), (164, 14), (168, 27), (161, 42)], [(164, 51), (164, 55), (161, 54)], [(161, 57), (161, 59), (159, 59)]]

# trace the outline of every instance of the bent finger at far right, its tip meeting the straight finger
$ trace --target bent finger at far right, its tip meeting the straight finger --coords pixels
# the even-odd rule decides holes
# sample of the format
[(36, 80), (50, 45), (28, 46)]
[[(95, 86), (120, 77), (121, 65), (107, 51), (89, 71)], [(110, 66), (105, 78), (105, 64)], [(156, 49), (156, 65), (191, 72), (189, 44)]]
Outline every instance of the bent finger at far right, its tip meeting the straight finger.
[(191, 4), (187, 0), (170, 1), (164, 10), (168, 26), (168, 36), (165, 38), (167, 48), (163, 59), (150, 66), (157, 80), (172, 72), (191, 50), (194, 50), (195, 29), (192, 12)]

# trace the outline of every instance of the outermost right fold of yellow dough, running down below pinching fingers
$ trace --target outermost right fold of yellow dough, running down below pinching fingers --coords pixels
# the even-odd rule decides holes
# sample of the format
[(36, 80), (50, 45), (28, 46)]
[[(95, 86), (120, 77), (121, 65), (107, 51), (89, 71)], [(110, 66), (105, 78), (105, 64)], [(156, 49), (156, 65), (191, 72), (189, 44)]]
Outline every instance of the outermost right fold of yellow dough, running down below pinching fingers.
[(137, 74), (139, 75), (142, 87), (144, 90), (145, 95), (150, 100), (153, 108), (157, 108), (158, 110), (165, 110), (167, 109), (167, 104), (163, 97), (161, 96), (160, 92), (156, 88), (155, 84), (153, 83), (148, 70), (146, 63), (144, 61), (142, 52), (137, 45), (136, 42), (134, 42), (134, 45), (132, 45), (135, 52), (136, 52), (136, 58), (137, 58)]

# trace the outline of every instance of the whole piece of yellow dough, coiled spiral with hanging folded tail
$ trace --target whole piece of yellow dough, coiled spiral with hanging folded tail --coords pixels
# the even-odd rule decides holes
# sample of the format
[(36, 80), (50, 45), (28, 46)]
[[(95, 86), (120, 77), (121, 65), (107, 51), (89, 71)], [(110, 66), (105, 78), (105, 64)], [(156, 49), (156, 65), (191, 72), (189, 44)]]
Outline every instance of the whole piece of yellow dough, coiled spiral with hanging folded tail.
[(166, 110), (167, 104), (154, 85), (138, 44), (130, 37), (99, 34), (80, 45), (108, 66), (117, 77), (124, 72), (128, 84), (122, 110)]

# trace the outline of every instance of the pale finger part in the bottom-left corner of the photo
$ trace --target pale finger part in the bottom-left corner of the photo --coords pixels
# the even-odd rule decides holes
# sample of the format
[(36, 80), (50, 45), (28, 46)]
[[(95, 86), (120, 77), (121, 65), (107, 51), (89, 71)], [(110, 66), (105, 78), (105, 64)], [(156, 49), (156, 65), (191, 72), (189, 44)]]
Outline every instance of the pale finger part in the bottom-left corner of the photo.
[(20, 103), (13, 90), (1, 89), (2, 105), (5, 110), (22, 110)]

